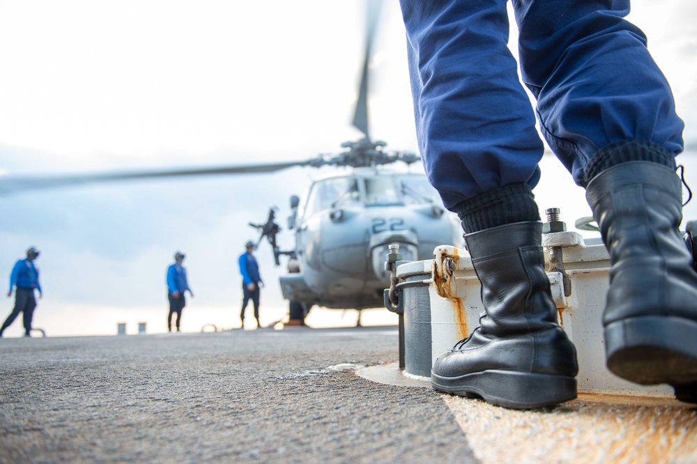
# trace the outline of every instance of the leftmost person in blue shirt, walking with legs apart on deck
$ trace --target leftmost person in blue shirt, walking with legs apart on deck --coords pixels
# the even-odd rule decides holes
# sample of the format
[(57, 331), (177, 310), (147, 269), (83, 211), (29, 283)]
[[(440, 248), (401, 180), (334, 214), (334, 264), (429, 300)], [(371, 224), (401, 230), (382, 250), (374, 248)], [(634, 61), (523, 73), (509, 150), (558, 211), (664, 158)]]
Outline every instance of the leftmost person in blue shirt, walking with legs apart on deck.
[(39, 291), (39, 297), (42, 296), (41, 284), (39, 284), (39, 270), (34, 265), (34, 260), (38, 256), (38, 249), (31, 247), (26, 250), (26, 259), (20, 259), (15, 263), (15, 267), (10, 274), (10, 291), (7, 293), (8, 297), (10, 297), (12, 296), (13, 288), (17, 288), (15, 291), (15, 309), (12, 310), (10, 316), (0, 327), (0, 337), (2, 337), (2, 333), (15, 321), (15, 318), (20, 313), (23, 313), (24, 316), (24, 337), (31, 337), (31, 319), (36, 308), (34, 288)]

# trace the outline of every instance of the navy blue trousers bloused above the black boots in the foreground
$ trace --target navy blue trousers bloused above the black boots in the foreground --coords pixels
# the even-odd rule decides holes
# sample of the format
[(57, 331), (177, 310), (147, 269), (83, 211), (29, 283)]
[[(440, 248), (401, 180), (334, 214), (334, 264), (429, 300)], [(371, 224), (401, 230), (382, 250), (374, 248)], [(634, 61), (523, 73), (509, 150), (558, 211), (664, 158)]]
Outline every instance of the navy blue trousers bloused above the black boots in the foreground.
[[(507, 47), (507, 0), (401, 0), (418, 141), (446, 208), (513, 183), (535, 187), (544, 151)], [(627, 140), (677, 155), (671, 88), (624, 17), (629, 0), (513, 0), (522, 82), (574, 180)]]

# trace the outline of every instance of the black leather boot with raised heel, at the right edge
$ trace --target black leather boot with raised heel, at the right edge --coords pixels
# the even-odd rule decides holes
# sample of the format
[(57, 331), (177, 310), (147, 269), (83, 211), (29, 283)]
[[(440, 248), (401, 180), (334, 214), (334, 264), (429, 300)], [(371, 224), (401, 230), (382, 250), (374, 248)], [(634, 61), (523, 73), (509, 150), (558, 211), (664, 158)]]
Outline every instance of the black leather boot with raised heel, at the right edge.
[(611, 261), (608, 369), (643, 385), (673, 385), (677, 399), (697, 403), (697, 273), (678, 231), (680, 178), (660, 164), (625, 162), (586, 189)]

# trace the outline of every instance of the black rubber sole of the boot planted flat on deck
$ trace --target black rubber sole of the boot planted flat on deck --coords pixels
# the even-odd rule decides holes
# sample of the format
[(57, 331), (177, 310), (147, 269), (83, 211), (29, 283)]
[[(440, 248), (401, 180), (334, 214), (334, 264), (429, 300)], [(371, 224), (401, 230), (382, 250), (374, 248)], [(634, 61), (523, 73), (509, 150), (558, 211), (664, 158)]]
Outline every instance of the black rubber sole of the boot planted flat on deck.
[(512, 409), (544, 408), (576, 398), (575, 378), (550, 374), (492, 370), (441, 377), (431, 373), (431, 386), (457, 396), (478, 396), (487, 403)]

